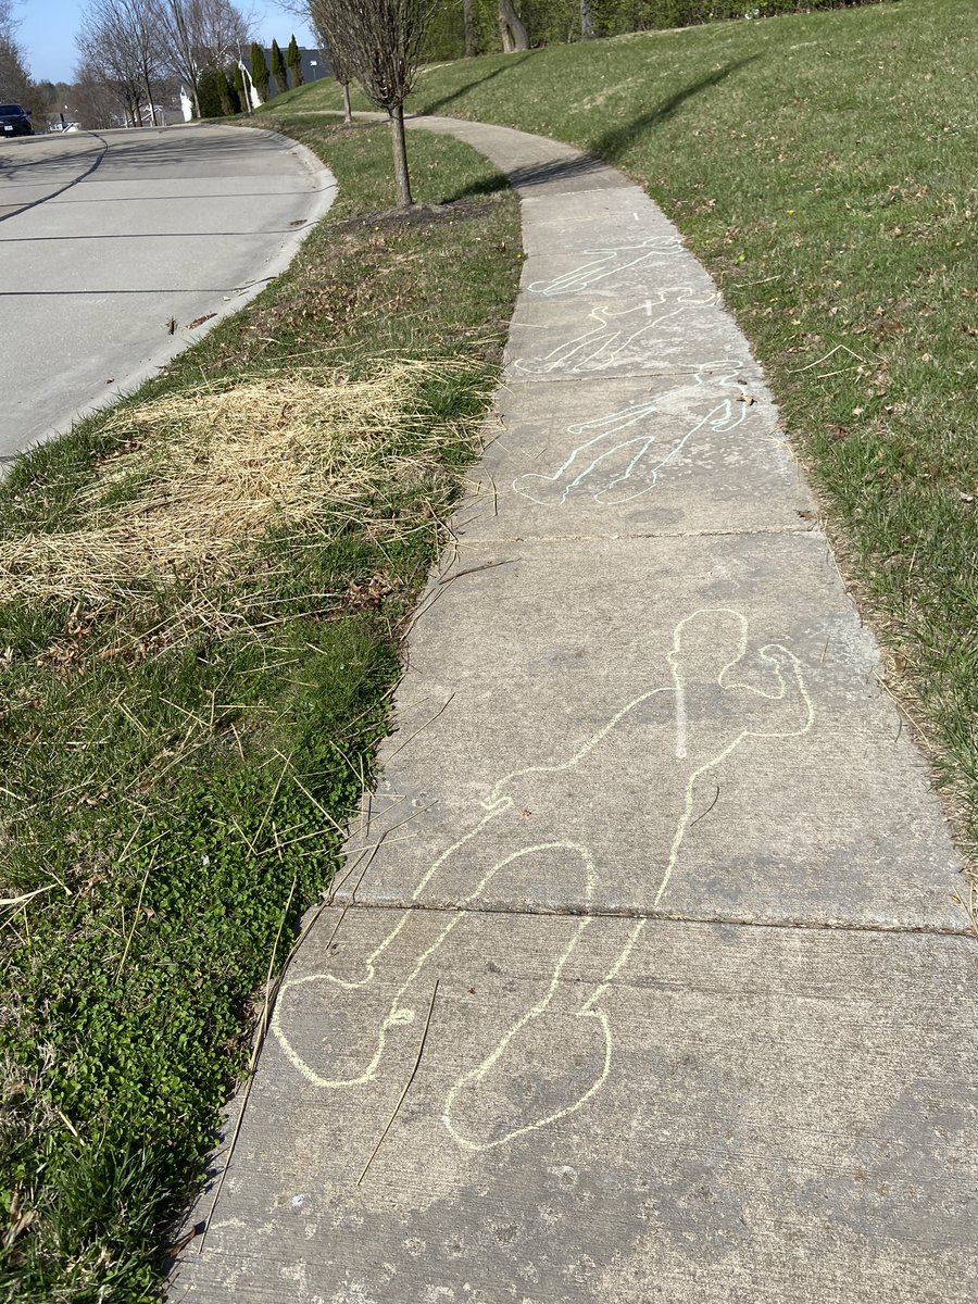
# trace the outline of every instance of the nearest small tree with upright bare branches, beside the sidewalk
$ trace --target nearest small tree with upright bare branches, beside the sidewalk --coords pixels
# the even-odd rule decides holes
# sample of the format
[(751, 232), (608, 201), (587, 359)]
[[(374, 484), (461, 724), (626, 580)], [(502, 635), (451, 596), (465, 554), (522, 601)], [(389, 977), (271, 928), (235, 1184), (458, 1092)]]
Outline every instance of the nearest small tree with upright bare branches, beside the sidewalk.
[(409, 209), (411, 177), (404, 140), (404, 100), (411, 94), (432, 0), (326, 0), (342, 33), (349, 67), (368, 99), (387, 112), (394, 142), (398, 206)]

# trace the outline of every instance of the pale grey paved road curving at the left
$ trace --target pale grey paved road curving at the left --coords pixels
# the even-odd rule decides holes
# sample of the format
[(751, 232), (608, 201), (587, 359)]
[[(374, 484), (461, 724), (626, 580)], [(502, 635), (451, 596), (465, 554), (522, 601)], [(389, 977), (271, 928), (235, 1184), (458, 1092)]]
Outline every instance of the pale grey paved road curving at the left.
[(271, 132), (0, 142), (0, 458), (132, 390), (243, 306), (334, 193), (308, 150)]

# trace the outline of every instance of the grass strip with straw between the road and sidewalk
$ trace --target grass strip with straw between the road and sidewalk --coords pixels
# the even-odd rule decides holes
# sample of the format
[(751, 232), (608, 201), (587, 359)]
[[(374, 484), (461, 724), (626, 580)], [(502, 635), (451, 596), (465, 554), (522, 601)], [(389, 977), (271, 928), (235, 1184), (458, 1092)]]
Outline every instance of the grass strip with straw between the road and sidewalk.
[[(256, 1013), (370, 782), (519, 276), (493, 168), (276, 123), (289, 271), (0, 485), (0, 1299), (159, 1297)], [(476, 196), (476, 198), (472, 198)]]

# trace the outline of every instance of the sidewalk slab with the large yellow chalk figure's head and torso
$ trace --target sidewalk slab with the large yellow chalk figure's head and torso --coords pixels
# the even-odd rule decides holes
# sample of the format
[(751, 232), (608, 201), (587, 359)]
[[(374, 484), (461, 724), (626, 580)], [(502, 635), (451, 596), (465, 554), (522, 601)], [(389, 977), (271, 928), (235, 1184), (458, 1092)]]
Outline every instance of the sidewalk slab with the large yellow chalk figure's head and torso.
[(819, 536), (463, 546), (454, 569), (339, 900), (966, 931)]

